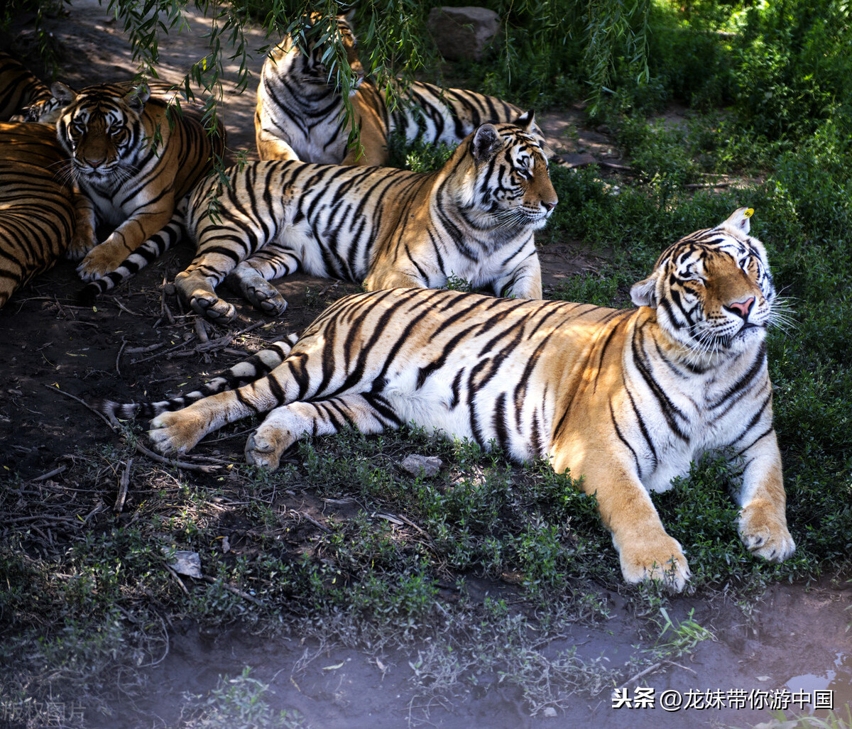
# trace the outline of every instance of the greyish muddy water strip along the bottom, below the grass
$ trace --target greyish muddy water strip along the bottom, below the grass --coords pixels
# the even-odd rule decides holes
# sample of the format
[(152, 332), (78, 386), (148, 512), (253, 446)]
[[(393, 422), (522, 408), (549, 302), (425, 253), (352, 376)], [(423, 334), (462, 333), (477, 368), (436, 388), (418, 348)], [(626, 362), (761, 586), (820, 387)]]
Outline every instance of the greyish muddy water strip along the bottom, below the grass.
[[(268, 684), (263, 699), (273, 709), (296, 710), (314, 727), (750, 727), (779, 709), (788, 718), (824, 717), (829, 706), (845, 716), (852, 707), (850, 594), (846, 583), (776, 585), (754, 604), (750, 619), (720, 598), (672, 600), (672, 620), (694, 610), (694, 620), (715, 640), (662, 663), (617, 694), (608, 688), (596, 696), (576, 692), (552, 716), (531, 716), (521, 688), (498, 673), (467, 676), (452, 691), (429, 697), (409, 664), (423, 644), (376, 655), (366, 647), (268, 640), (236, 628), (211, 633), (187, 623), (170, 635), (169, 655), (150, 672), (146, 695), (114, 706), (119, 723), (113, 718), (101, 726), (179, 726), (187, 693), (204, 697), (221, 675), (238, 676), (247, 666), (253, 678)], [(575, 625), (545, 653), (556, 656), (576, 646), (587, 661), (604, 657), (607, 666), (622, 668), (652, 648), (648, 623), (642, 629), (613, 598), (607, 621)], [(631, 677), (625, 673), (622, 680)]]

